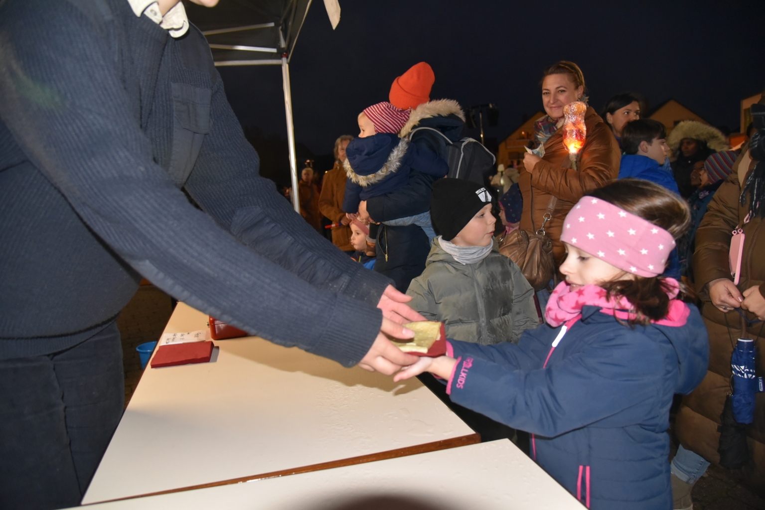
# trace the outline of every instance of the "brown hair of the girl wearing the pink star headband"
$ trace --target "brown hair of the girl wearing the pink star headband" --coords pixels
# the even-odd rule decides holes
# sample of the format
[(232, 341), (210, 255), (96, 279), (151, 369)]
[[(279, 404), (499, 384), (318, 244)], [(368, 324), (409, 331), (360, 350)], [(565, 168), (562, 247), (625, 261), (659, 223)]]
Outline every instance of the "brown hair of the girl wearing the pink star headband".
[[(588, 196), (605, 200), (653, 223), (678, 239), (691, 224), (688, 204), (666, 188), (642, 179), (620, 179), (588, 193)], [(630, 323), (646, 325), (651, 320), (661, 320), (669, 313), (671, 287), (664, 278), (644, 278), (608, 281), (599, 284), (606, 290), (606, 297), (623, 296), (635, 307), (637, 317)], [(693, 300), (694, 294), (679, 282), (678, 297)]]

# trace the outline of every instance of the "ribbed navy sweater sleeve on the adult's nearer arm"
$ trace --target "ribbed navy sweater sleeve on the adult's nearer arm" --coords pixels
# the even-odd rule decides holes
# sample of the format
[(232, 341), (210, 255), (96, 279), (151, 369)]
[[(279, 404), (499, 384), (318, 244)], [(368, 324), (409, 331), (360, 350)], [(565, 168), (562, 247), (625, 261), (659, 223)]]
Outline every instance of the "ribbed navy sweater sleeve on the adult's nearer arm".
[[(255, 245), (256, 236), (248, 239), (248, 234), (260, 222), (258, 242), (263, 245), (288, 236), (298, 251), (312, 250), (316, 256), (328, 251), (317, 248), (314, 239), (298, 239), (308, 237), (308, 229), (297, 226), (302, 219), (278, 202), (284, 199), (272, 184), (254, 176), (256, 154), (240, 143), (241, 133), (232, 127), (236, 119), (223, 105), (220, 89), (213, 114), (217, 134), (205, 141), (200, 173), (195, 170), (190, 183), (213, 219), (190, 206), (152, 160), (151, 142), (119, 78), (113, 57), (117, 43), (108, 28), (96, 26), (68, 2), (5, 2), (0, 11), (0, 118), (30, 161), (106, 245), (164, 291), (249, 333), (343, 365), (366, 354), (381, 313), (374, 304), (343, 293), (350, 277), (334, 288), (327, 281), (311, 284), (307, 268), (290, 271), (272, 260), (275, 253), (269, 248), (252, 249), (226, 231), (239, 228), (239, 236)], [(31, 19), (34, 23), (23, 22)], [(225, 145), (220, 137), (232, 132), (233, 155), (215, 168), (223, 184), (211, 180), (210, 192), (203, 193), (203, 172), (213, 170), (208, 160), (221, 155)], [(249, 180), (243, 179), (246, 171), (253, 174)], [(223, 193), (233, 205), (216, 210), (213, 198)], [(278, 224), (282, 220), (286, 226)], [(347, 268), (355, 273), (350, 261)], [(373, 283), (372, 278), (362, 281)], [(382, 284), (373, 286), (382, 293)], [(351, 315), (362, 331), (344, 326)]]

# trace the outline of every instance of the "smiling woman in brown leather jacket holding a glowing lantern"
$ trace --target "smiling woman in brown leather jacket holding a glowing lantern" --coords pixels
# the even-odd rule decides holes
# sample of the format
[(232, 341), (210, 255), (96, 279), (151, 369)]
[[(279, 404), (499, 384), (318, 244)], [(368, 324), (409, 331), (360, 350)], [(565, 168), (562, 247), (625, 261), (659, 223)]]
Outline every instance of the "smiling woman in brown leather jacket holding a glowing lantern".
[[(621, 151), (608, 125), (591, 106), (584, 114), (587, 139), (579, 153), (578, 170), (571, 168), (563, 145), (563, 107), (569, 102), (584, 101), (584, 76), (573, 62), (561, 61), (545, 70), (542, 78), (542, 104), (547, 115), (534, 126), (535, 137), (545, 146), (543, 158), (524, 154), (518, 184), (523, 195), (520, 228), (535, 232), (552, 205), (545, 232), (552, 239), (556, 264), (565, 256), (561, 239), (563, 219), (571, 207), (595, 188), (603, 187), (619, 175)], [(525, 168), (525, 171), (524, 171)], [(552, 203), (551, 199), (557, 199)]]

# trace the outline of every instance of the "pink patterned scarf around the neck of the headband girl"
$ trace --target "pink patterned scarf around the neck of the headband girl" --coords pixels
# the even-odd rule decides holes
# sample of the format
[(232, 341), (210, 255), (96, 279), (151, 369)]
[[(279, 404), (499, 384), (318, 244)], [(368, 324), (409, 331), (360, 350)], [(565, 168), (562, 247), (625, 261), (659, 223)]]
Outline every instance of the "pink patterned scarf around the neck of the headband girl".
[[(679, 291), (677, 280), (666, 278), (664, 281), (671, 286), (671, 290), (667, 293), (670, 298), (669, 313), (662, 320), (652, 322), (662, 326), (682, 326), (691, 310), (681, 300), (673, 299)], [(571, 291), (571, 286), (562, 281), (550, 294), (550, 300), (545, 309), (545, 319), (550, 326), (558, 327), (571, 319), (581, 317), (581, 309), (587, 305), (601, 307), (602, 313), (622, 320), (636, 317), (632, 304), (625, 297), (611, 296), (610, 300), (607, 300), (605, 289), (597, 285), (584, 285)]]

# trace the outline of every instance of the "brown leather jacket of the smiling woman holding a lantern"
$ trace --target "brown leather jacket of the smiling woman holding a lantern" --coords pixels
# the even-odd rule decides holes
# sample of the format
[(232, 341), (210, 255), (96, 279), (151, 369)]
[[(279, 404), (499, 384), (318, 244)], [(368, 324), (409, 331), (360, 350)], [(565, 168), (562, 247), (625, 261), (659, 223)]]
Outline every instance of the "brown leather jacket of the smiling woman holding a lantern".
[(518, 184), (523, 195), (520, 228), (534, 232), (539, 229), (550, 198), (558, 197), (552, 220), (545, 226), (558, 264), (565, 255), (560, 239), (568, 211), (585, 193), (603, 187), (619, 176), (621, 151), (611, 129), (591, 107), (584, 114), (584, 125), (587, 140), (579, 154), (579, 171), (571, 168), (568, 151), (563, 145), (563, 129), (558, 129), (545, 142), (545, 157), (535, 164), (532, 174), (519, 168)]

